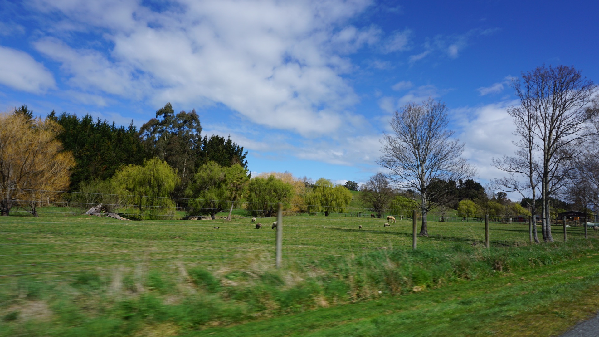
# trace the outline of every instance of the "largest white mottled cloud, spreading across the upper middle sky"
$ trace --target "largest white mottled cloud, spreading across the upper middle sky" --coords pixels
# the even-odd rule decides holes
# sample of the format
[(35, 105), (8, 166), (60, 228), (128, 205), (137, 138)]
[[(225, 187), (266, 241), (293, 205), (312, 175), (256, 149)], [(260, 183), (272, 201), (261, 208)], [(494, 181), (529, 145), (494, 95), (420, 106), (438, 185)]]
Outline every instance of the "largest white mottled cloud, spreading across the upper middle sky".
[[(135, 1), (35, 3), (62, 12), (63, 29), (99, 29), (113, 46), (100, 52), (56, 38), (35, 43), (62, 63), (75, 88), (154, 105), (222, 103), (252, 122), (304, 136), (344, 125), (358, 96), (341, 77), (353, 67), (341, 55), (382, 34), (344, 25), (369, 5), (359, 0), (181, 1), (161, 13)], [(392, 35), (387, 50), (405, 48), (408, 35)]]

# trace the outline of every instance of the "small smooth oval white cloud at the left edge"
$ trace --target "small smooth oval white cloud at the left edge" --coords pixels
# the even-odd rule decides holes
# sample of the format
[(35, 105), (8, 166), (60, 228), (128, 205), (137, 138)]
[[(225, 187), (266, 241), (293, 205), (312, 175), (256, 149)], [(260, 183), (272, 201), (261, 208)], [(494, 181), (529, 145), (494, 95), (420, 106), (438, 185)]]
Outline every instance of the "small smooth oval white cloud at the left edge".
[(42, 94), (56, 87), (54, 77), (28, 53), (0, 46), (0, 83), (11, 88)]

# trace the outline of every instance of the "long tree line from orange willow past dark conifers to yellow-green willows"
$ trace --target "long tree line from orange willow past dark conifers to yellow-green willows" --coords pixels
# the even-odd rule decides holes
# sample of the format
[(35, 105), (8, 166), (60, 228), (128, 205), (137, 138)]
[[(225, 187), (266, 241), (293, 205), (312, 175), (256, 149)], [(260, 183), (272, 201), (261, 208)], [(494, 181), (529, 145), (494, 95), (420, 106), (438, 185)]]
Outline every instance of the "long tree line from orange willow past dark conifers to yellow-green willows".
[[(0, 115), (0, 212), (13, 207), (37, 216), (42, 203), (68, 199), (134, 219), (190, 216), (249, 205), (272, 216), (276, 204), (292, 212), (344, 212), (352, 196), (328, 179), (313, 182), (291, 173), (252, 179), (247, 151), (231, 137), (201, 137), (195, 110), (175, 113), (170, 103), (140, 130), (71, 113), (34, 118), (25, 105)], [(61, 191), (74, 193), (63, 194)]]

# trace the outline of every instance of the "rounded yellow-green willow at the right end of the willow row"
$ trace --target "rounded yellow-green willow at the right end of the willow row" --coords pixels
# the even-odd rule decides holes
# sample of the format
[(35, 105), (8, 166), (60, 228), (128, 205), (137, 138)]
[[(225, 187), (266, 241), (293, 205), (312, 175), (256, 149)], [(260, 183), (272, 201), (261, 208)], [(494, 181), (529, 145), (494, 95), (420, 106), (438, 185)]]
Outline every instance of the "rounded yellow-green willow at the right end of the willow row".
[(309, 212), (345, 212), (352, 201), (352, 193), (343, 185), (334, 186), (331, 180), (320, 178), (305, 197)]

